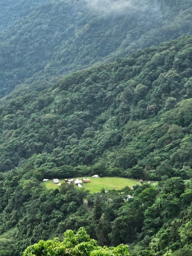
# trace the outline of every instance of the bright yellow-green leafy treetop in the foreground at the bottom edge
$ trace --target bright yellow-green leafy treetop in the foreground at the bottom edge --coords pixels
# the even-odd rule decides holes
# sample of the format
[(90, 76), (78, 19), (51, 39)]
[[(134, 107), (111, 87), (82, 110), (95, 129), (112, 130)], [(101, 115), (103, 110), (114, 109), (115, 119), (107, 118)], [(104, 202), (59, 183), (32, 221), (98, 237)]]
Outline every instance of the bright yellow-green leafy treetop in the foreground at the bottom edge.
[(97, 246), (97, 241), (90, 239), (86, 230), (81, 227), (76, 234), (67, 230), (62, 242), (58, 238), (43, 241), (28, 246), (23, 256), (129, 256), (128, 246), (120, 244), (117, 247)]

